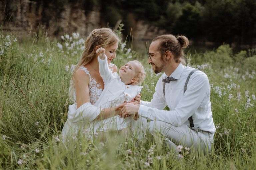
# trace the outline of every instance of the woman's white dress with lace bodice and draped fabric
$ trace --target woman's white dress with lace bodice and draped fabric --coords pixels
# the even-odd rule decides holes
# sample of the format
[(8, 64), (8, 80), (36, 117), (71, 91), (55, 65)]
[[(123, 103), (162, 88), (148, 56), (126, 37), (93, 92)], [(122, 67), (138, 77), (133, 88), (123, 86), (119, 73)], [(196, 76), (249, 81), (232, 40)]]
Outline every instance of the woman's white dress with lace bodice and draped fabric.
[[(111, 70), (113, 70), (113, 66), (114, 64), (110, 65)], [(102, 87), (94, 78), (92, 78), (87, 68), (81, 66), (79, 69), (85, 71), (90, 78), (90, 102), (84, 103), (79, 108), (77, 108), (76, 102), (73, 105), (69, 105), (68, 119), (65, 122), (61, 133), (63, 141), (65, 141), (67, 136), (75, 136), (81, 133), (85, 135), (93, 135), (98, 131), (100, 126), (99, 121), (95, 119), (100, 114), (101, 108), (94, 106), (94, 103), (99, 99), (102, 93)], [(75, 93), (74, 99), (76, 101)]]

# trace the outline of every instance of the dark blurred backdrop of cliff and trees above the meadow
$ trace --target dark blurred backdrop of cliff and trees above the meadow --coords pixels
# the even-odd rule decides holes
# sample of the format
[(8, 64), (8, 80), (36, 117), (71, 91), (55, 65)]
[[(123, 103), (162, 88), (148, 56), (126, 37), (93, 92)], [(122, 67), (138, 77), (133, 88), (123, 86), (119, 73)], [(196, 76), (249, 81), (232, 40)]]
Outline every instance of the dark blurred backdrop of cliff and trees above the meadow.
[(1, 0), (0, 22), (20, 36), (42, 31), (57, 39), (123, 23), (123, 40), (143, 55), (166, 33), (187, 36), (191, 53), (222, 44), (234, 52), (256, 47), (256, 0)]

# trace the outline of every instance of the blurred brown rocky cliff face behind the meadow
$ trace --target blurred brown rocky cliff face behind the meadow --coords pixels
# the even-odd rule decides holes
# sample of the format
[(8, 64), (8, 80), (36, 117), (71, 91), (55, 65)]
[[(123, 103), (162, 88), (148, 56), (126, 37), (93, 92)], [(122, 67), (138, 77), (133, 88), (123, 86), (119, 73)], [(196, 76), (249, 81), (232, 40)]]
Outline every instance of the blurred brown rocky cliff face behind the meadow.
[[(2, 29), (19, 34), (36, 33), (38, 28), (49, 36), (59, 37), (64, 33), (77, 32), (86, 37), (95, 28), (105, 27), (100, 7), (85, 9), (80, 2), (56, 5), (44, 0), (3, 0), (0, 4)], [(133, 40), (151, 40), (165, 33), (142, 20), (135, 20), (129, 14)], [(122, 18), (120, 18), (122, 19)]]

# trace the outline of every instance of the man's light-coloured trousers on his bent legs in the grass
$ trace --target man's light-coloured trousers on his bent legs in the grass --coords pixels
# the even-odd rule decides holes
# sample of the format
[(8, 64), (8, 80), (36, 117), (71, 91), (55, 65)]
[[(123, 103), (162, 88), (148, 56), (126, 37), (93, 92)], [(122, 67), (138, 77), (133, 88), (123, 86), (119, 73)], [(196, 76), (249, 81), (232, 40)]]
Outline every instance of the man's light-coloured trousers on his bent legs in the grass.
[(209, 153), (213, 145), (213, 133), (198, 130), (192, 130), (187, 125), (180, 127), (173, 126), (163, 121), (148, 122), (150, 133), (155, 136), (161, 134), (166, 138), (167, 145), (177, 150), (177, 145), (189, 147), (194, 151)]

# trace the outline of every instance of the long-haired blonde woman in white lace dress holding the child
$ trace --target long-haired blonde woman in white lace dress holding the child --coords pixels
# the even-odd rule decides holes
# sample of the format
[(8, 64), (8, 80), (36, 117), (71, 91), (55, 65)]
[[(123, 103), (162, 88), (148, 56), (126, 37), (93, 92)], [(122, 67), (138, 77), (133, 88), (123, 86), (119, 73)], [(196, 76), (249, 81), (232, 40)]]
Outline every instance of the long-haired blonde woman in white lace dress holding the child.
[[(110, 62), (116, 58), (118, 42), (118, 36), (109, 28), (95, 29), (86, 39), (81, 60), (71, 78), (70, 98), (74, 104), (69, 106), (68, 119), (62, 129), (63, 141), (65, 137), (77, 134), (98, 135), (99, 120), (120, 114), (118, 106), (104, 109), (94, 106), (104, 89), (96, 50), (105, 48), (109, 67), (117, 72), (117, 67)], [(135, 100), (140, 101), (140, 96)]]

